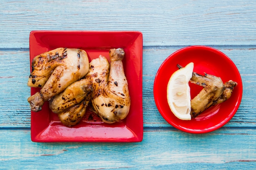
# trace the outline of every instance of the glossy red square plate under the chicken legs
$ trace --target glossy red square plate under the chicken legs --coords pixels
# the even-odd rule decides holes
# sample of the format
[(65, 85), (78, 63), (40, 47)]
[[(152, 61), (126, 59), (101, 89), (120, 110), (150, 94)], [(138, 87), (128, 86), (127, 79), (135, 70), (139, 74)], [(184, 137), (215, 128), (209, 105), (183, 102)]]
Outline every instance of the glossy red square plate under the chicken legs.
[[(45, 102), (39, 112), (31, 111), (33, 142), (141, 142), (142, 111), (142, 33), (138, 31), (31, 31), (30, 61), (36, 55), (55, 48), (80, 48), (89, 61), (105, 56), (111, 48), (124, 48), (124, 72), (128, 81), (131, 105), (126, 119), (114, 124), (102, 122), (90, 109), (79, 124), (66, 127)], [(109, 60), (110, 61), (110, 60)], [(31, 87), (31, 95), (39, 92)]]

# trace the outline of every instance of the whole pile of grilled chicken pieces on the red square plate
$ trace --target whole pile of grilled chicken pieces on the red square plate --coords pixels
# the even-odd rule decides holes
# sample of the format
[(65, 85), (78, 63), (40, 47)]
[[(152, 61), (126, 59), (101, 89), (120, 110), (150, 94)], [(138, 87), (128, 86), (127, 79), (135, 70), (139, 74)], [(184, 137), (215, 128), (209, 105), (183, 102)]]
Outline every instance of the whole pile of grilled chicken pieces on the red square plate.
[(111, 49), (109, 54), (111, 63), (100, 55), (90, 64), (86, 52), (78, 49), (57, 48), (36, 56), (28, 85), (42, 88), (28, 98), (31, 110), (40, 111), (49, 100), (50, 109), (66, 126), (79, 123), (90, 102), (103, 122), (126, 118), (130, 96), (122, 63), (124, 50)]

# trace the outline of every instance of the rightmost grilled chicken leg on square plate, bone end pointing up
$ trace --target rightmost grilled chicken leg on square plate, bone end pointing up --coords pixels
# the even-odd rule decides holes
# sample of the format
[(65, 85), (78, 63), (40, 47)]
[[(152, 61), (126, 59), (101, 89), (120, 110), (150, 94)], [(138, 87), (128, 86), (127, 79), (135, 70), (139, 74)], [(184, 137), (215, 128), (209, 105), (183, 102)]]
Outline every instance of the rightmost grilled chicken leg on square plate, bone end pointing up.
[(123, 49), (111, 49), (111, 63), (100, 55), (91, 61), (86, 76), (92, 81), (92, 110), (106, 123), (123, 120), (129, 113), (130, 96), (123, 58)]

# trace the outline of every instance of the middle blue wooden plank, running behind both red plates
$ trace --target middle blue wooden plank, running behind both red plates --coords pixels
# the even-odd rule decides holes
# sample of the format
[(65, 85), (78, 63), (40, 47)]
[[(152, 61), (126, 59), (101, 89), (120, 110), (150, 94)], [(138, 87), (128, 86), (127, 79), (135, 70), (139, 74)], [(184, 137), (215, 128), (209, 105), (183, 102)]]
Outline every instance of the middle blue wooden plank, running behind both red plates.
[[(236, 64), (243, 81), (243, 98), (234, 118), (226, 125), (256, 126), (255, 73), (256, 49), (253, 47), (213, 46), (227, 54)], [(170, 127), (155, 105), (153, 84), (162, 62), (176, 50), (175, 47), (144, 47), (143, 50), (143, 114), (144, 127)], [(29, 76), (28, 49), (0, 50), (0, 127), (30, 127), (30, 109), (27, 98)], [(154, 67), (152, 67), (154, 65)]]

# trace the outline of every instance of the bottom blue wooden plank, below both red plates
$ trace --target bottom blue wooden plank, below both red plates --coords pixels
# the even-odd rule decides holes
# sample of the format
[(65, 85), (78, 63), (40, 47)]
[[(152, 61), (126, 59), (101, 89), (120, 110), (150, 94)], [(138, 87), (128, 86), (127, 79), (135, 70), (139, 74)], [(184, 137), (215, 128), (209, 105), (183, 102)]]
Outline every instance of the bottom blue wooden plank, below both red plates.
[(253, 169), (255, 129), (201, 135), (148, 129), (140, 143), (34, 143), (29, 129), (0, 129), (1, 169)]

